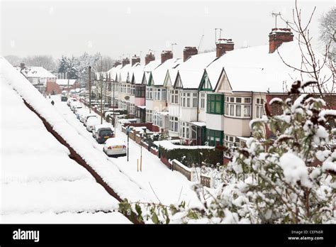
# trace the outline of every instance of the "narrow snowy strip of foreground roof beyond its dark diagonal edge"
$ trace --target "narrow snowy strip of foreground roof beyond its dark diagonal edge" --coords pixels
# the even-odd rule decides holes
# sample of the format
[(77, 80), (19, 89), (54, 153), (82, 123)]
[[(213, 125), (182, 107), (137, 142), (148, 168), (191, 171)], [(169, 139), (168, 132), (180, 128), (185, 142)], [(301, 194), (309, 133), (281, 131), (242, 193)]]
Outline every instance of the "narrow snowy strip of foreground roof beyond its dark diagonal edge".
[[(103, 177), (104, 182), (106, 182), (106, 184), (121, 198), (128, 198), (134, 201), (152, 201), (153, 197), (141, 190), (137, 184), (120, 172), (115, 165), (111, 165), (111, 163), (106, 160), (106, 155), (104, 155), (104, 153), (92, 148), (92, 145), (87, 143), (85, 138), (79, 135), (79, 133), (62, 118), (62, 115), (55, 111), (52, 104), (50, 104), (50, 102), (48, 102), (43, 95), (20, 74), (20, 72), (15, 70), (4, 57), (0, 57), (0, 65), (1, 83), (8, 84), (15, 89), (16, 92), (18, 92), (18, 94), (20, 94), (20, 96), (25, 99), (27, 103), (40, 114), (40, 116), (43, 116), (52, 128), (67, 141), (69, 146), (76, 150), (93, 170), (98, 174), (108, 174), (108, 176)], [(11, 114), (11, 116), (13, 116), (13, 114)], [(21, 116), (18, 117), (21, 119)], [(27, 122), (26, 119), (25, 122)], [(26, 130), (28, 129), (29, 128), (26, 128)], [(33, 135), (32, 131), (21, 131), (21, 135), (38, 140), (38, 135)], [(11, 140), (11, 138), (7, 139)], [(11, 145), (13, 145), (13, 143)], [(35, 148), (35, 150), (39, 150), (38, 146), (29, 145)], [(48, 146), (49, 144), (46, 142), (43, 145)]]

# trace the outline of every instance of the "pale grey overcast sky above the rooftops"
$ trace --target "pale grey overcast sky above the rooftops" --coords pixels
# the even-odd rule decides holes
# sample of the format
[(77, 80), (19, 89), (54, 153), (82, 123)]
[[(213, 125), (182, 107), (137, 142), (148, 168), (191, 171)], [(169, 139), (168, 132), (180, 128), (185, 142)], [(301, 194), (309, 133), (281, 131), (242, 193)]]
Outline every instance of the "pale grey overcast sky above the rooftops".
[[(275, 26), (271, 12), (291, 21), (294, 1), (1, 1), (1, 55), (80, 55), (100, 52), (113, 58), (184, 46), (215, 47), (215, 28), (235, 48), (264, 45)], [(310, 30), (335, 1), (299, 1), (303, 19), (316, 6)], [(286, 27), (278, 21), (278, 27)]]

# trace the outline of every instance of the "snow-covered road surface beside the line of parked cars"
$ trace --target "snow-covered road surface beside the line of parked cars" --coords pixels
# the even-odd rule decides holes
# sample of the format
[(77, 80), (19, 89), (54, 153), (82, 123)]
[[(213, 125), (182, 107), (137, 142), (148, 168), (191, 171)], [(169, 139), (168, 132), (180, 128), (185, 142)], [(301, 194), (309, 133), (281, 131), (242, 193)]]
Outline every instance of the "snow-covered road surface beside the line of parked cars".
[[(55, 101), (55, 109), (60, 112), (64, 119), (72, 125), (81, 136), (84, 136), (86, 141), (91, 143), (93, 148), (96, 148), (103, 153), (103, 144), (97, 143), (92, 137), (92, 134), (89, 131), (86, 131), (85, 126), (72, 113), (66, 102), (60, 101), (60, 96), (57, 95), (53, 96), (52, 99)], [(50, 99), (50, 101), (52, 99)], [(86, 109), (89, 111), (87, 107)], [(116, 136), (118, 136), (118, 138), (123, 138), (127, 143), (127, 136), (118, 128), (116, 130)], [(108, 158), (106, 156), (106, 159), (109, 160), (110, 165), (115, 165), (121, 172), (123, 172), (123, 174), (127, 175), (130, 180), (141, 187), (142, 190), (152, 194), (157, 202), (160, 201), (163, 204), (175, 204), (184, 200), (191, 206), (199, 205), (196, 194), (191, 189), (193, 183), (187, 180), (186, 177), (179, 172), (172, 172), (169, 170), (157, 156), (153, 155), (145, 148), (142, 148), (142, 172), (138, 172), (137, 159), (140, 160), (140, 146), (131, 139), (130, 157), (128, 162), (126, 157)], [(108, 174), (100, 175), (102, 177), (108, 176)]]

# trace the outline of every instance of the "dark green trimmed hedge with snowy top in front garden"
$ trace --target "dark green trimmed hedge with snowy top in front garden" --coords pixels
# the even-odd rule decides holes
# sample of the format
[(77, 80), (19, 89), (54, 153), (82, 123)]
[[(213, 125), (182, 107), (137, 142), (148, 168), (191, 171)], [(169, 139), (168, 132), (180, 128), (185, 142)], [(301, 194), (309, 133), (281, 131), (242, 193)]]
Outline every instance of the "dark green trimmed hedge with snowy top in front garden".
[(198, 148), (198, 149), (187, 149), (176, 148), (172, 150), (167, 150), (165, 148), (159, 147), (159, 155), (168, 160), (179, 160), (182, 164), (191, 168), (193, 164), (206, 163), (209, 165), (216, 165), (220, 163), (223, 165), (223, 151), (208, 148)]

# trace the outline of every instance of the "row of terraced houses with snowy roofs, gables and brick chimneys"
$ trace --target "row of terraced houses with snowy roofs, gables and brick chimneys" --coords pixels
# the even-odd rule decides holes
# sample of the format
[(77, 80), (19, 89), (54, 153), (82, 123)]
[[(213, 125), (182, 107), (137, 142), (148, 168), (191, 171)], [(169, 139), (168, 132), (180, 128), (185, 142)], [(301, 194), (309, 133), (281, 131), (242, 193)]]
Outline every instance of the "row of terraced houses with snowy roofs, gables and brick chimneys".
[(137, 56), (116, 62), (108, 71), (114, 104), (172, 138), (194, 145), (241, 145), (251, 136), (250, 121), (264, 115), (267, 102), (286, 97), (295, 80), (309, 79), (285, 64), (301, 67), (293, 36), (289, 28), (273, 28), (267, 45), (235, 49), (233, 40), (219, 39), (210, 53), (186, 47), (183, 58), (164, 50), (159, 60), (147, 54), (144, 65)]

